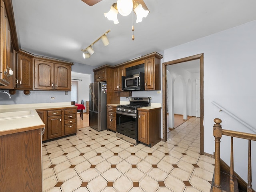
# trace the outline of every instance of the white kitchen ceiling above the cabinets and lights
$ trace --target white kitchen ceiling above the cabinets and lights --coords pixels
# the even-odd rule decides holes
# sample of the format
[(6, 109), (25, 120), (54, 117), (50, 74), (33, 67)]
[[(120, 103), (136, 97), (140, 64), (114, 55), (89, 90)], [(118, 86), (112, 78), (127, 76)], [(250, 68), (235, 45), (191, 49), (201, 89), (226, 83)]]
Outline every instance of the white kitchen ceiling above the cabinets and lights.
[[(255, 0), (144, 0), (150, 13), (140, 23), (133, 14), (132, 41), (132, 14), (118, 14), (119, 24), (104, 17), (114, 2), (12, 0), (20, 48), (95, 67), (116, 65), (256, 20)], [(84, 59), (81, 49), (109, 29), (110, 44), (98, 41), (95, 53)]]

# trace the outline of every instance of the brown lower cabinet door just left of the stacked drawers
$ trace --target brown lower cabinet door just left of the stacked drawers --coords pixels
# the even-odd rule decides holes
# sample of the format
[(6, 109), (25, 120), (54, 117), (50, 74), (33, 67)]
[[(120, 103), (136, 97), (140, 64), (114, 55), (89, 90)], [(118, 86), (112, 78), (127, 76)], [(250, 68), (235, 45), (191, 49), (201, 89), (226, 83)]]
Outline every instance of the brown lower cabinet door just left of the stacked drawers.
[(61, 116), (48, 117), (48, 139), (62, 136), (62, 122)]

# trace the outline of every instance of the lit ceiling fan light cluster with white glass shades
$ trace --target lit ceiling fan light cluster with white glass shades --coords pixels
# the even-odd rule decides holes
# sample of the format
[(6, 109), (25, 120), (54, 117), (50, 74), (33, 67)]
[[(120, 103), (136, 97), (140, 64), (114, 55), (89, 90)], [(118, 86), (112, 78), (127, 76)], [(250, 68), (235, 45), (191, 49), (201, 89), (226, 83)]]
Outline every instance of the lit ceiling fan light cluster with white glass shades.
[(118, 12), (122, 16), (129, 15), (132, 10), (137, 16), (136, 23), (142, 22), (142, 18), (148, 16), (149, 10), (143, 0), (117, 0), (117, 3), (112, 4), (108, 13), (104, 13), (108, 20), (114, 21), (114, 24), (118, 24), (117, 14)]

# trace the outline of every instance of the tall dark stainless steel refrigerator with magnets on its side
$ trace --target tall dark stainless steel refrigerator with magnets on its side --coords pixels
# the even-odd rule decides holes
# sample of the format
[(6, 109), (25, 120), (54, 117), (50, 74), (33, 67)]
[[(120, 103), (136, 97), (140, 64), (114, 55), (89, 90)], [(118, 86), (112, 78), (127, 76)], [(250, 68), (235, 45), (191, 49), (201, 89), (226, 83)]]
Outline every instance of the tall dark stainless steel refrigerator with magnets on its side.
[(107, 84), (95, 82), (89, 87), (89, 126), (102, 131), (107, 129)]

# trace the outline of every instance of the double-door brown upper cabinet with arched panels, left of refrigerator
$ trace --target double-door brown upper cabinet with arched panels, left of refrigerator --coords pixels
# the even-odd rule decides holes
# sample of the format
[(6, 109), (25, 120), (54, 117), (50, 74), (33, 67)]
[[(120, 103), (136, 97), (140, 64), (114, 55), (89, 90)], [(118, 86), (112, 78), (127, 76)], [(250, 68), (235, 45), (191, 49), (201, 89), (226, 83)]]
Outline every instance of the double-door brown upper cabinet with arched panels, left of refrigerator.
[(72, 64), (34, 59), (35, 90), (71, 90)]

